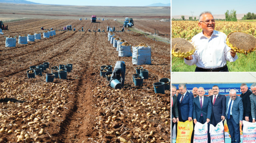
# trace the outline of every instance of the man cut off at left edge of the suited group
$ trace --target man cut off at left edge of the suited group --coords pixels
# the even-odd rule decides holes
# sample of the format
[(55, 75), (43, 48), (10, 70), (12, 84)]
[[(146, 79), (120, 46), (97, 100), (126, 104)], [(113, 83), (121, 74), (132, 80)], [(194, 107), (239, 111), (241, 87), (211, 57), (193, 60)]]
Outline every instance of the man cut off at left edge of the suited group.
[[(172, 85), (172, 99), (171, 99), (171, 106), (172, 106), (172, 129), (174, 127), (174, 124), (177, 127), (177, 121), (176, 118), (178, 118), (178, 107), (177, 107), (177, 96), (176, 94), (176, 86)], [(177, 130), (175, 131), (177, 135)]]

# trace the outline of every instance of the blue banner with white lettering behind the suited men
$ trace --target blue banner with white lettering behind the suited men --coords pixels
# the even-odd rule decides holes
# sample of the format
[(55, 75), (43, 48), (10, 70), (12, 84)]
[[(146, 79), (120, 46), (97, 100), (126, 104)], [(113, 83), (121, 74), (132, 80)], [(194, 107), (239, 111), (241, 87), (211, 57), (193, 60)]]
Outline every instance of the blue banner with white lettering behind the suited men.
[[(234, 90), (236, 90), (236, 94), (240, 95), (240, 94), (242, 94), (242, 92), (240, 90), (241, 84), (242, 83), (239, 83), (239, 84), (186, 84), (186, 86), (187, 86), (187, 91), (190, 93), (192, 93), (192, 90), (194, 87), (197, 87), (197, 88), (203, 87), (204, 91), (205, 91), (204, 95), (208, 95), (208, 90), (212, 89), (212, 86), (217, 85), (217, 86), (219, 86), (219, 89), (220, 89), (219, 94), (229, 95), (229, 91), (231, 89), (234, 89)], [(173, 85), (176, 86), (178, 89), (179, 84), (173, 84)], [(248, 90), (251, 89), (250, 88), (251, 85), (252, 85), (252, 83), (247, 84)]]

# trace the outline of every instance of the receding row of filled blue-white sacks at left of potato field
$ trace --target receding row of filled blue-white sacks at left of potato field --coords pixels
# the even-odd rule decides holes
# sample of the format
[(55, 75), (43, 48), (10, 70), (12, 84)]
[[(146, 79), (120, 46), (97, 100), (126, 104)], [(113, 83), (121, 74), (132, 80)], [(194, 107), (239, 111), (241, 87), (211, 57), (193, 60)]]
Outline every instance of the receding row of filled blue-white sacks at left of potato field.
[[(55, 31), (44, 32), (44, 38), (49, 38), (50, 36), (56, 35)], [(28, 36), (19, 36), (18, 43), (19, 44), (27, 44), (28, 41), (35, 41), (35, 39), (41, 39), (41, 33), (34, 33), (34, 35), (28, 34)], [(6, 37), (5, 47), (16, 47), (16, 37), (9, 38)]]

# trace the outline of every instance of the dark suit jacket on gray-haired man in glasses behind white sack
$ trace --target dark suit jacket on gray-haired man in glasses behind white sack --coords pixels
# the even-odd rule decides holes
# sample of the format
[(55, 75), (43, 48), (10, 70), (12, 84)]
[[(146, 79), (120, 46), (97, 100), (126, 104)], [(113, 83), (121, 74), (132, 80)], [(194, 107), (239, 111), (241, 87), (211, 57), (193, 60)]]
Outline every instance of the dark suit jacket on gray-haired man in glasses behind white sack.
[(211, 119), (212, 104), (210, 98), (207, 96), (204, 96), (202, 109), (200, 105), (200, 97), (196, 96), (196, 98), (193, 100), (193, 119), (199, 121), (201, 113), (203, 114), (204, 122), (206, 122), (206, 118)]

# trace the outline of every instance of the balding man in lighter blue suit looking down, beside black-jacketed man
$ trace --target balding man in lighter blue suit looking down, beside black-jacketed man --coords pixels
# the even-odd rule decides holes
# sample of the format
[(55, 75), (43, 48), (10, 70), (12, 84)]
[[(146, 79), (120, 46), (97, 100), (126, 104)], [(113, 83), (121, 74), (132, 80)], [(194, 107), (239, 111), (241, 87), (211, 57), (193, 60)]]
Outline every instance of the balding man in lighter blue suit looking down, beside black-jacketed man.
[(242, 98), (236, 96), (236, 90), (231, 89), (226, 97), (226, 119), (231, 136), (231, 143), (240, 143), (240, 125), (244, 114)]

